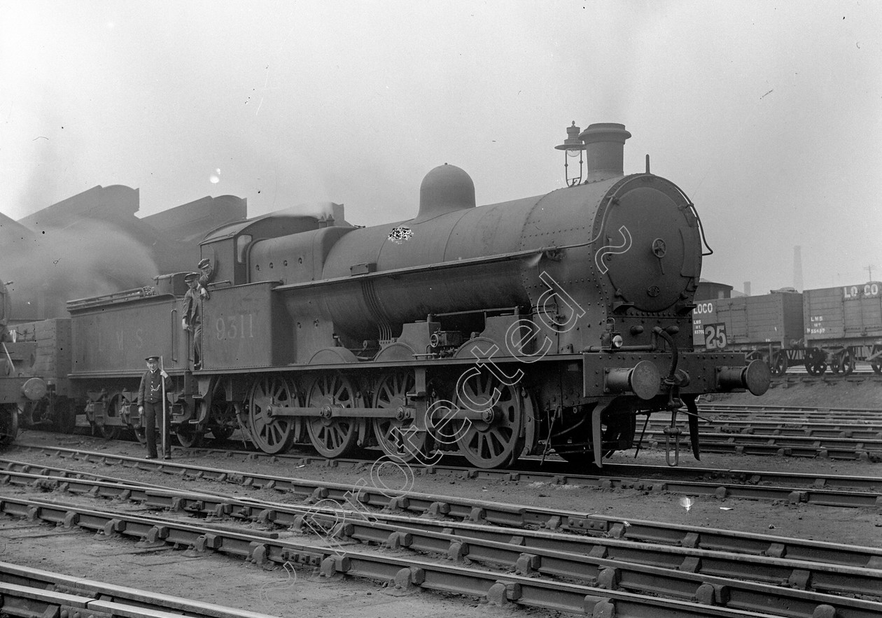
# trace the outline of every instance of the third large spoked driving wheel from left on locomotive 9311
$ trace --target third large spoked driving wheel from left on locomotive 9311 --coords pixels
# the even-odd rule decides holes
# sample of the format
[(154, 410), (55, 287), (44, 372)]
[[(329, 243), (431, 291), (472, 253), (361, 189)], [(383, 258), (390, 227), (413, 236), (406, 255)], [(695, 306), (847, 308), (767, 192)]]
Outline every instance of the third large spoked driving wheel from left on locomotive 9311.
[[(400, 372), (383, 376), (374, 390), (374, 407), (392, 408), (393, 410), (407, 403), (407, 392), (413, 391), (415, 385), (413, 372)], [(374, 436), (389, 458), (393, 461), (407, 462), (417, 454), (426, 455), (428, 433), (409, 430), (414, 425), (413, 419), (400, 421), (394, 418), (377, 418), (373, 420)]]

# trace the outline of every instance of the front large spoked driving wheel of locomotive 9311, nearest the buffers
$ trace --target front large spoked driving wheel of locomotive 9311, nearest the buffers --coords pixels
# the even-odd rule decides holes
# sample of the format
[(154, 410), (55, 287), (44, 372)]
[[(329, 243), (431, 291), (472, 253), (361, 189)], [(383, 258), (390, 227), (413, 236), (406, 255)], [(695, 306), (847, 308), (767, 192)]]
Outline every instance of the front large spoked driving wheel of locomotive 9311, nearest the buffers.
[(483, 412), (486, 416), (457, 425), (460, 452), (479, 468), (512, 465), (524, 450), (524, 402), (519, 389), (492, 374), (468, 371), (471, 374), (467, 379), (460, 378), (455, 403), (460, 409)]

